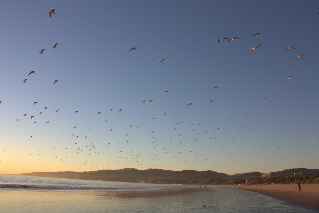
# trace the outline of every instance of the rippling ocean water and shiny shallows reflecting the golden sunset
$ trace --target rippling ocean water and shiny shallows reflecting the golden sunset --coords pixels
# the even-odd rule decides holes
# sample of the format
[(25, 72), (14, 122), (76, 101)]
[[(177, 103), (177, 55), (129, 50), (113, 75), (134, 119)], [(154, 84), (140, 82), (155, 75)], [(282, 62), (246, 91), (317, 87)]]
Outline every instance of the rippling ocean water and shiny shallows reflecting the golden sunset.
[[(196, 188), (162, 196), (121, 192)], [(0, 175), (0, 212), (316, 212), (234, 186), (168, 185)]]

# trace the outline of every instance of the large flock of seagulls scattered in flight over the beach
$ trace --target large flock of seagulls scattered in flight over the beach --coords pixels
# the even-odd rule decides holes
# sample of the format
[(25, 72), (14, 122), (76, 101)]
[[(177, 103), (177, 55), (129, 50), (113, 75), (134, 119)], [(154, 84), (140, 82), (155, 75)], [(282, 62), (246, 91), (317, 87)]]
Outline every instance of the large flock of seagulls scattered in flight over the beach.
[[(56, 10), (54, 8), (51, 8), (51, 10), (49, 10), (49, 16), (52, 17), (52, 14), (56, 15), (55, 11)], [(314, 17), (316, 17), (318, 14), (319, 13), (316, 13)], [(252, 34), (250, 36), (250, 38), (253, 38), (254, 36), (258, 37), (258, 36), (263, 36), (263, 35), (261, 33), (254, 33), (254, 34)], [(226, 40), (228, 40), (228, 42), (230, 42), (230, 41), (235, 42), (235, 39), (239, 40), (239, 38), (236, 37), (236, 36), (234, 36), (233, 38), (224, 37), (222, 39), (219, 39), (218, 43), (219, 42), (223, 43)], [(50, 46), (50, 47), (52, 47), (54, 49), (57, 49), (57, 45), (58, 44), (59, 43), (56, 43), (55, 45)], [(260, 46), (262, 46), (262, 44), (260, 44), (260, 45), (258, 45), (256, 47), (249, 47), (249, 49), (252, 49), (252, 50), (256, 51), (257, 48), (259, 48)], [(137, 51), (137, 49), (138, 49), (137, 47), (132, 47), (132, 48), (130, 48), (129, 52), (131, 52), (133, 50)], [(296, 50), (296, 48), (294, 48), (294, 47), (289, 47), (289, 48), (286, 49), (286, 52), (287, 51), (292, 51), (293, 49)], [(45, 50), (46, 49), (42, 49), (41, 51), (38, 51), (38, 53), (43, 55)], [(302, 53), (301, 55), (297, 55), (295, 57), (302, 58), (302, 56), (305, 53), (306, 52)], [(165, 58), (161, 59), (161, 60), (158, 60), (158, 62), (160, 64), (163, 64), (164, 60), (165, 60)], [(34, 71), (34, 70), (30, 71), (28, 76), (36, 75), (35, 72), (36, 71)], [(292, 80), (293, 77), (294, 76), (287, 77), (287, 79), (288, 80)], [(28, 81), (28, 79), (24, 79), (23, 83), (27, 83), (27, 81)], [(58, 82), (59, 82), (58, 80), (53, 80), (53, 84), (54, 85), (56, 85), (56, 83), (58, 83)], [(216, 90), (216, 89), (219, 89), (219, 87), (218, 86), (214, 86), (212, 88), (212, 90)], [(171, 92), (172, 91), (170, 91), (170, 90), (166, 90), (166, 91), (163, 92), (163, 94), (167, 95), (168, 93), (171, 93)], [(265, 100), (265, 99), (267, 99), (267, 98), (260, 98), (260, 100)], [(213, 103), (213, 101), (214, 101), (214, 99), (209, 99), (208, 100), (209, 103)], [(2, 103), (2, 102), (3, 102), (3, 100), (0, 101), (0, 104), (5, 104), (5, 102), (4, 103)], [(153, 99), (149, 99), (149, 100), (145, 99), (145, 100), (141, 100), (140, 102), (142, 104), (145, 104), (147, 102), (152, 103), (152, 102), (154, 102), (154, 100)], [(34, 106), (35, 105), (39, 105), (39, 103), (37, 101), (34, 101), (33, 105)], [(191, 105), (194, 105), (194, 104), (191, 103), (191, 102), (187, 103), (187, 106), (191, 107)], [(167, 103), (167, 106), (171, 107), (172, 104)], [(49, 110), (49, 108), (47, 106), (43, 107), (43, 109), (44, 109), (44, 111), (41, 111), (41, 112), (37, 113), (37, 114), (39, 114), (38, 116), (43, 116), (42, 114), (45, 114), (45, 111)], [(109, 111), (111, 111), (111, 112), (113, 112), (113, 110), (114, 110), (114, 108), (110, 108), (109, 109)], [(54, 111), (56, 113), (59, 113), (59, 109), (56, 109)], [(116, 111), (116, 110), (114, 110), (114, 111)], [(117, 109), (117, 111), (118, 112), (122, 112), (122, 109)], [(74, 111), (74, 114), (79, 114), (79, 111), (78, 110)], [(97, 114), (98, 114), (98, 116), (102, 116), (103, 112), (99, 111), (99, 112), (97, 112)], [(176, 114), (178, 114), (178, 113), (174, 113), (174, 114), (172, 114), (172, 116), (175, 117)], [(27, 115), (28, 115), (27, 113), (23, 114), (23, 116), (27, 116)], [(167, 112), (163, 113), (162, 115), (163, 116), (167, 116)], [(252, 115), (253, 115), (254, 118), (256, 118), (256, 116), (260, 116), (261, 113), (257, 112), (257, 113), (253, 113)], [(38, 121), (35, 121), (37, 115), (30, 114), (29, 116), (30, 116), (30, 119), (32, 120), (33, 123), (38, 123)], [(249, 115), (243, 115), (243, 119), (246, 119), (248, 116)], [(151, 120), (155, 120), (155, 119), (156, 119), (155, 117), (151, 118)], [(225, 118), (225, 119), (227, 119), (229, 122), (231, 122), (233, 120), (233, 118)], [(104, 122), (108, 122), (108, 120), (105, 120), (105, 118), (102, 119), (102, 120)], [(19, 122), (20, 118), (17, 118), (16, 121)], [(46, 121), (46, 123), (48, 124), (49, 121)], [(253, 123), (252, 125), (254, 125), (255, 123), (257, 123), (257, 121), (253, 120), (252, 123)], [(185, 125), (185, 123), (183, 121), (178, 121), (178, 122), (173, 122), (171, 125), (172, 125), (173, 130), (177, 130), (178, 129), (177, 126)], [(195, 126), (195, 125), (197, 126), (197, 128), (192, 128), (192, 126)], [(140, 128), (139, 125), (133, 126), (133, 124), (128, 124), (128, 126), (130, 128), (135, 127), (133, 129), (139, 129)], [(214, 134), (214, 132), (222, 131), (222, 128), (221, 127), (217, 127), (217, 128), (215, 127), (215, 128), (208, 129), (208, 127), (206, 126), (206, 129), (204, 129), (202, 127), (203, 124), (200, 123), (200, 122), (198, 122), (198, 123), (189, 123), (188, 126), (190, 126), (190, 128), (187, 128), (187, 127), (185, 127), (185, 128), (189, 129), (190, 132), (194, 132), (194, 137), (193, 138), (184, 138), (184, 139), (182, 139), (182, 134), (176, 131), (175, 136), (170, 137), (170, 139), (166, 143), (165, 142), (159, 142), (156, 139), (156, 136), (154, 134), (154, 133), (156, 133), (156, 131), (151, 130), (149, 132), (150, 136), (151, 136), (150, 137), (150, 142), (152, 143), (153, 149), (154, 150), (160, 149), (162, 154), (163, 154), (163, 155), (161, 155), (161, 154), (158, 154), (158, 153), (154, 152), (153, 157), (149, 159), (149, 163), (152, 164), (153, 167), (157, 167), (159, 165), (163, 165), (165, 160), (169, 160), (171, 162), (175, 161), (175, 163), (178, 162), (179, 166), (182, 166), (183, 164), (187, 164), (189, 161), (194, 161), (195, 160), (195, 162), (201, 162), (201, 161), (204, 161), (204, 160), (209, 160), (209, 158), (212, 155), (216, 154), (216, 153), (212, 153), (212, 154), (210, 154), (208, 156), (200, 155), (197, 151), (190, 150), (189, 147), (191, 145), (192, 145), (193, 148), (196, 147), (196, 146), (198, 146), (199, 148), (200, 147), (204, 147), (204, 145), (202, 145), (200, 143), (200, 140), (198, 139), (197, 135), (200, 135), (200, 134), (209, 135), (209, 132), (211, 132), (211, 134)], [(271, 126), (267, 126), (267, 127), (269, 129), (271, 129)], [(72, 132), (70, 133), (70, 135), (74, 137), (75, 141), (73, 142), (73, 146), (68, 146), (69, 150), (71, 148), (72, 152), (76, 152), (77, 154), (83, 154), (83, 152), (85, 153), (85, 155), (84, 156), (82, 155), (82, 157), (85, 159), (85, 162), (83, 162), (83, 165), (85, 165), (86, 169), (97, 167), (99, 162), (98, 161), (90, 161), (88, 156), (91, 155), (91, 154), (92, 155), (93, 154), (98, 155), (98, 154), (102, 153), (103, 152), (102, 147), (100, 147), (100, 144), (95, 144), (94, 142), (83, 141), (83, 140), (88, 140), (90, 132), (92, 130), (91, 128), (87, 129), (86, 131), (84, 131), (82, 129), (80, 132), (78, 132), (77, 129), (78, 129), (78, 126), (73, 126)], [(251, 132), (251, 131), (254, 130), (251, 127), (250, 128), (239, 127), (237, 130), (242, 131), (242, 130), (245, 130), (245, 129), (247, 130), (247, 132)], [(114, 128), (111, 128), (109, 130), (112, 131), (112, 130), (114, 130)], [(247, 134), (247, 132), (245, 134)], [(81, 135), (81, 134), (83, 134), (83, 135)], [(228, 157), (230, 155), (233, 155), (234, 153), (227, 151), (226, 146), (229, 146), (229, 145), (232, 146), (232, 145), (237, 144), (238, 140), (244, 140), (245, 139), (245, 136), (244, 136), (245, 134), (243, 133), (242, 134), (243, 136), (241, 138), (235, 138), (233, 136), (230, 136), (229, 137), (230, 138), (230, 141), (229, 141), (230, 143), (227, 144), (227, 145), (226, 144), (220, 145), (220, 150), (218, 152), (219, 153), (225, 153), (224, 156), (226, 156), (226, 157)], [(309, 136), (310, 136), (310, 138), (312, 138), (312, 135), (309, 135)], [(79, 137), (82, 138), (82, 140), (79, 140), (80, 139)], [(129, 137), (129, 133), (125, 134), (124, 137), (125, 138), (123, 138), (122, 142), (116, 142), (116, 144), (112, 143), (112, 142), (106, 142), (104, 144), (104, 146), (105, 147), (123, 146), (122, 144), (130, 144), (131, 141), (133, 140), (133, 138)], [(30, 138), (34, 138), (34, 135), (30, 135)], [(314, 141), (316, 141), (316, 138), (312, 138), (312, 139)], [(214, 140), (218, 140), (218, 139), (215, 138), (215, 137), (209, 137), (208, 136), (207, 140), (214, 141)], [(175, 147), (172, 147), (171, 145), (174, 145)], [(281, 150), (281, 146), (278, 143), (272, 143), (271, 145), (274, 146), (274, 150), (276, 150), (277, 154), (278, 154), (278, 152)], [(163, 148), (160, 148), (161, 146), (163, 146)], [(65, 150), (67, 150), (68, 147), (64, 147)], [(62, 150), (64, 148), (62, 148), (62, 147), (58, 147), (58, 148), (57, 147), (52, 147), (52, 150), (56, 151), (58, 149)], [(251, 147), (247, 147), (245, 149), (247, 149), (247, 150), (249, 150), (251, 152), (254, 152), (254, 150)], [(95, 151), (95, 150), (98, 150), (98, 151)], [(240, 152), (240, 150), (241, 150), (241, 148), (236, 148), (236, 152)], [(6, 151), (6, 150), (4, 150), (4, 151)], [(122, 154), (122, 152), (123, 151), (121, 150), (118, 153), (118, 156), (117, 156), (117, 158), (115, 160), (114, 159), (113, 159), (113, 161), (112, 161), (112, 159), (108, 160), (108, 165), (104, 165), (104, 166), (112, 167), (112, 166), (118, 166), (118, 165), (122, 164), (122, 167), (125, 168), (125, 167), (131, 167), (131, 165), (135, 164), (135, 165), (138, 165), (138, 166), (142, 167), (142, 165), (143, 165), (142, 162), (145, 161), (145, 160), (143, 159), (143, 157), (142, 157), (143, 153), (141, 153), (140, 150), (130, 150), (130, 152), (128, 154)], [(179, 160), (181, 158), (180, 156), (184, 152), (186, 154), (186, 159), (189, 159), (189, 160)], [(43, 157), (43, 154), (42, 155), (41, 154), (42, 153), (40, 151), (37, 152), (37, 154), (36, 154), (37, 155), (37, 160), (41, 160), (41, 157)], [(29, 154), (29, 155), (31, 156), (32, 154)], [(109, 156), (107, 156), (107, 155), (105, 155), (104, 157), (105, 158), (109, 158)], [(64, 161), (65, 159), (67, 159), (67, 156), (62, 156), (62, 154), (59, 154), (59, 152), (57, 151), (55, 158), (58, 159), (59, 161)], [(267, 158), (269, 159), (269, 157), (267, 157)], [(70, 160), (70, 161), (73, 162), (73, 163), (76, 163), (75, 160), (74, 161)], [(236, 161), (236, 160), (234, 160), (234, 161)], [(1, 159), (0, 159), (0, 162), (1, 162)], [(221, 162), (221, 160), (219, 162)], [(269, 162), (271, 162), (270, 159), (269, 159)], [(303, 162), (301, 161), (300, 162), (300, 166), (302, 166), (302, 163)], [(215, 164), (215, 162), (212, 162), (212, 164)], [(170, 166), (173, 167), (175, 165), (170, 165)], [(75, 165), (75, 167), (77, 167), (77, 166)], [(265, 170), (265, 168), (264, 168), (264, 170)]]

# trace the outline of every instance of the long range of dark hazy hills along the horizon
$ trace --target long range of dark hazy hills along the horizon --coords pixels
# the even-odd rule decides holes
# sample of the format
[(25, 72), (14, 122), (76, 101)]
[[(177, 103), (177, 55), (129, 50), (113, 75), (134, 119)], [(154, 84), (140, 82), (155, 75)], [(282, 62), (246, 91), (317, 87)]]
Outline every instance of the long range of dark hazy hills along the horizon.
[[(302, 172), (304, 175), (319, 174), (319, 170), (313, 169), (289, 169), (277, 172), (271, 172), (271, 176), (287, 176), (294, 173)], [(161, 170), (161, 169), (120, 169), (120, 170), (98, 170), (89, 172), (32, 172), (22, 173), (20, 175), (39, 176), (39, 177), (60, 177), (85, 180), (104, 180), (104, 181), (121, 181), (121, 182), (147, 182), (147, 183), (182, 183), (182, 184), (199, 184), (208, 181), (210, 183), (220, 184), (222, 180), (236, 180), (261, 178), (261, 172), (248, 172), (235, 175), (227, 175), (215, 171), (195, 171), (195, 170)], [(215, 180), (214, 180), (215, 179)], [(224, 181), (225, 182), (225, 181)], [(227, 181), (226, 181), (227, 182)], [(234, 182), (234, 181), (233, 181)], [(228, 182), (227, 182), (228, 183)]]

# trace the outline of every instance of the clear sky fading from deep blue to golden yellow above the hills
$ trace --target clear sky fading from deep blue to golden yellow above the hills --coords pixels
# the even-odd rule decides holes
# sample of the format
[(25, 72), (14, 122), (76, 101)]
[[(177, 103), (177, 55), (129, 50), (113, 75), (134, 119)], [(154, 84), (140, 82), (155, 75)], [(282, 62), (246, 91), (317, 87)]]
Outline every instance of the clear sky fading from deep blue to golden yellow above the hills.
[(0, 173), (319, 168), (318, 1), (0, 7)]

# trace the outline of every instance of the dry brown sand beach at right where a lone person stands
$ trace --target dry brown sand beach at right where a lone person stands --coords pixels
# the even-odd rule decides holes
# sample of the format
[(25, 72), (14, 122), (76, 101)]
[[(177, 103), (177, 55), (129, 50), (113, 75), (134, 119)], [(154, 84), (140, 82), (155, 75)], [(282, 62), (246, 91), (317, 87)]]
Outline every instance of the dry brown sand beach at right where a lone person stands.
[(241, 187), (241, 189), (262, 193), (293, 205), (319, 211), (319, 184), (301, 184), (301, 191), (298, 191), (297, 184), (253, 185)]

